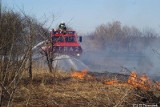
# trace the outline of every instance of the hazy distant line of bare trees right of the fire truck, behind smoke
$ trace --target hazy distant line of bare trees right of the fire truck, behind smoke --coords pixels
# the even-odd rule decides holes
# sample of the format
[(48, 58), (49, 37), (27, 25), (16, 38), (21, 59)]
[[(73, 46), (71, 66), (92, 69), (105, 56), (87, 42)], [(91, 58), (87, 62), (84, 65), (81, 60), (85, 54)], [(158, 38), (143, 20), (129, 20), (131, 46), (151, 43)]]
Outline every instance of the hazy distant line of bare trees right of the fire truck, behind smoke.
[(153, 29), (141, 31), (136, 27), (122, 26), (119, 21), (98, 26), (87, 38), (98, 48), (135, 52), (160, 42), (159, 34)]

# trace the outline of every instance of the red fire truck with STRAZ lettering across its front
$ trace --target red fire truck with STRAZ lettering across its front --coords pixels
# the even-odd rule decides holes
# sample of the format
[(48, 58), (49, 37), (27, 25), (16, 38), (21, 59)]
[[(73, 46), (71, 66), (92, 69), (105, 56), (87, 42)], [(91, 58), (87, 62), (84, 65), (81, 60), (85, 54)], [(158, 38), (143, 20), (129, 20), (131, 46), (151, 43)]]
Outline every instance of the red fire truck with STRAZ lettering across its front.
[(52, 31), (52, 52), (69, 56), (80, 56), (82, 48), (80, 42), (82, 37), (78, 37), (75, 31)]

